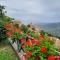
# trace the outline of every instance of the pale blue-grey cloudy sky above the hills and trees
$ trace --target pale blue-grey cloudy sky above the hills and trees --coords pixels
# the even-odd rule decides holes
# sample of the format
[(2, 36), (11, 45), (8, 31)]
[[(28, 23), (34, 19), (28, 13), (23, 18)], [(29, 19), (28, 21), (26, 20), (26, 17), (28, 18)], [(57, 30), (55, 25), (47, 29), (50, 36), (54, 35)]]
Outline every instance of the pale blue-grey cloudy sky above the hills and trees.
[(60, 0), (0, 0), (7, 15), (24, 23), (60, 22)]

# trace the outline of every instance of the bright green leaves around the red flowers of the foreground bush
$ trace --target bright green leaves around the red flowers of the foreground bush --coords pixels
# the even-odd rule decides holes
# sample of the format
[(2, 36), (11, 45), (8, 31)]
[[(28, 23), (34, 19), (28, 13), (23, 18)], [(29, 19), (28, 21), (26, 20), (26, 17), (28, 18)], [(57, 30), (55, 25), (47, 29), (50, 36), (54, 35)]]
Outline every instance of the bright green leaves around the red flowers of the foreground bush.
[[(34, 32), (30, 32), (30, 35), (32, 37), (35, 38), (35, 33)], [(25, 46), (24, 48), (24, 52), (32, 52), (32, 56), (28, 57), (28, 60), (33, 60), (35, 57), (39, 56), (42, 60), (47, 60), (48, 56), (57, 56), (57, 48), (55, 48), (55, 46), (53, 44), (51, 44), (50, 42), (47, 41), (48, 35), (46, 33), (42, 34), (44, 35), (44, 38), (42, 40), (42, 42), (40, 42), (40, 40), (37, 40), (37, 42), (40, 42), (41, 44), (39, 46), (35, 45), (35, 43), (32, 43), (32, 46)], [(47, 48), (47, 52), (43, 53), (40, 51), (41, 48)]]

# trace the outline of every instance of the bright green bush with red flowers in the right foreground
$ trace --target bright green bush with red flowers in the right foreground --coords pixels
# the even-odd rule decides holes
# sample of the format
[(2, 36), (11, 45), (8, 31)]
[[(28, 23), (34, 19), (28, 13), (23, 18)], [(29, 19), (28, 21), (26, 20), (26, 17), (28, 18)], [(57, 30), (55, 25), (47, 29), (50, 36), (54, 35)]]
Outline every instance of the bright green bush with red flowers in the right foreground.
[[(31, 33), (32, 34), (32, 33)], [(32, 34), (34, 35), (34, 34)], [(38, 58), (38, 60), (51, 60), (53, 59), (52, 56), (57, 56), (57, 48), (55, 48), (54, 44), (51, 45), (51, 43), (48, 40), (48, 35), (39, 35), (40, 37), (37, 38), (35, 36), (33, 39), (28, 39), (24, 45), (22, 45), (22, 48), (24, 49), (24, 53), (26, 53), (26, 57), (28, 60), (35, 60), (35, 58)], [(40, 39), (42, 38), (42, 40)], [(49, 57), (51, 56), (51, 57)]]

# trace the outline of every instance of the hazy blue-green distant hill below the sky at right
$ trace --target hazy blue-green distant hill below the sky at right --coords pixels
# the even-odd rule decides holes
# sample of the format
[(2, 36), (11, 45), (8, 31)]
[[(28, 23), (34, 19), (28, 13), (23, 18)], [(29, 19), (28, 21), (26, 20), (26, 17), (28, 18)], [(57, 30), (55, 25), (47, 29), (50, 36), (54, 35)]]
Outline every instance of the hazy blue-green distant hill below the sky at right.
[(36, 24), (38, 27), (42, 28), (44, 31), (60, 37), (60, 22), (59, 23), (44, 23), (44, 24)]

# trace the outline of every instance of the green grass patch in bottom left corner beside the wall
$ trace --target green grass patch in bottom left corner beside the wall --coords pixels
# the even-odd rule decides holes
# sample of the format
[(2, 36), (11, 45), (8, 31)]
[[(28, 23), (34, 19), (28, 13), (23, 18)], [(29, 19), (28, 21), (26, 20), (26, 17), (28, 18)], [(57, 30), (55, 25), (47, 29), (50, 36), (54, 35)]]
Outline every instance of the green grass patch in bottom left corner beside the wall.
[(0, 43), (0, 60), (18, 60), (18, 58), (10, 45)]

